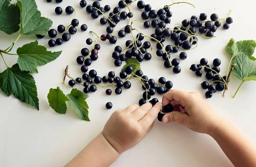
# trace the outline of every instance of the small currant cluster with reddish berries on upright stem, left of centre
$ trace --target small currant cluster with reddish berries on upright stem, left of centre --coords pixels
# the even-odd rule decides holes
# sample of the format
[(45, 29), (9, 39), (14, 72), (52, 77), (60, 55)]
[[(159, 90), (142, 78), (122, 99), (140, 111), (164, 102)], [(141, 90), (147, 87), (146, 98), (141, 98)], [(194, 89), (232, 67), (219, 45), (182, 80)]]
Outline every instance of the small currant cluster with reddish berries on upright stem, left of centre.
[[(91, 50), (87, 48), (81, 49), (81, 54), (82, 56), (78, 56), (76, 58), (76, 62), (81, 66), (81, 71), (83, 73), (86, 73), (88, 71), (88, 67), (92, 64), (93, 61), (98, 60), (98, 51), (101, 49), (101, 46), (96, 43), (95, 41), (94, 46)], [(93, 40), (91, 38), (86, 39), (86, 44), (87, 45), (92, 45)]]

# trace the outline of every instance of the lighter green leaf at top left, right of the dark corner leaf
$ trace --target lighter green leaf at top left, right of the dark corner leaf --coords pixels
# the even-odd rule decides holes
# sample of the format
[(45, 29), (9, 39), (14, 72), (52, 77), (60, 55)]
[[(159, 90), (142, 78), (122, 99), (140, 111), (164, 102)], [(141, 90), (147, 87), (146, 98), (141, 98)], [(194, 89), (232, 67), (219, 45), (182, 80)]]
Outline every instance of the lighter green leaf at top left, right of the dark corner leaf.
[(20, 9), (21, 35), (44, 35), (48, 32), (52, 26), (52, 20), (41, 17), (35, 0), (18, 0), (17, 5)]

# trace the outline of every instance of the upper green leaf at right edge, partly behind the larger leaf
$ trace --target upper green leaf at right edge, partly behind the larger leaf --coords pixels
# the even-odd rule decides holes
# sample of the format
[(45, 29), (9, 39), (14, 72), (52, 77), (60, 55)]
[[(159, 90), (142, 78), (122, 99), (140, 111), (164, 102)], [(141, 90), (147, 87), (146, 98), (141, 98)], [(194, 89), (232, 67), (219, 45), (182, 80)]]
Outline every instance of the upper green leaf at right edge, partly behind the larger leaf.
[(251, 60), (256, 60), (256, 58), (252, 56), (255, 47), (256, 41), (254, 40), (244, 40), (236, 42), (233, 38), (231, 38), (225, 49), (227, 53), (229, 53), (232, 57), (244, 54), (248, 56)]

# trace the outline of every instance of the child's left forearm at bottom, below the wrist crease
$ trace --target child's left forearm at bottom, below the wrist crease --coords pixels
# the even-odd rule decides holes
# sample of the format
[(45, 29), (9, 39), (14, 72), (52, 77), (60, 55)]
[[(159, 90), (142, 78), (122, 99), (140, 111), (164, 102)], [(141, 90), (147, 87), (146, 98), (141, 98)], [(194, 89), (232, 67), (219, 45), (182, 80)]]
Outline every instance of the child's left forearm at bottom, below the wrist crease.
[(100, 133), (65, 167), (109, 167), (118, 156), (118, 152)]

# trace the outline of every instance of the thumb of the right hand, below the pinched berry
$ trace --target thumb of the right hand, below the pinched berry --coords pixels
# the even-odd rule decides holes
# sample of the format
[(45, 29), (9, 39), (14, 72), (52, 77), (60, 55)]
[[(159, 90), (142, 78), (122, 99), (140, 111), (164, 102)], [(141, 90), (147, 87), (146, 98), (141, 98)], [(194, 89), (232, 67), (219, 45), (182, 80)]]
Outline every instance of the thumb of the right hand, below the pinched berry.
[(173, 111), (170, 113), (167, 113), (163, 116), (162, 118), (162, 122), (164, 124), (168, 123), (168, 122), (178, 122), (180, 124), (183, 124), (183, 122), (188, 119), (188, 115), (181, 113), (180, 111)]

